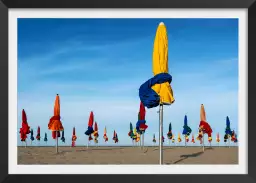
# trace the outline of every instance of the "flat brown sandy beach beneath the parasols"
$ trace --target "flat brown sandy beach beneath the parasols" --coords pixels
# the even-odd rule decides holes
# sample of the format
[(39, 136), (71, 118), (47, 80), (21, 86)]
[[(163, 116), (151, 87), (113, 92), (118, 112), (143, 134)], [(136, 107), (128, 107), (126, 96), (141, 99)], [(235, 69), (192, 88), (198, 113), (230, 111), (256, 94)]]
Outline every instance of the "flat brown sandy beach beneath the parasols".
[[(158, 147), (18, 147), (18, 164), (159, 164)], [(238, 164), (238, 147), (164, 147), (164, 164)]]

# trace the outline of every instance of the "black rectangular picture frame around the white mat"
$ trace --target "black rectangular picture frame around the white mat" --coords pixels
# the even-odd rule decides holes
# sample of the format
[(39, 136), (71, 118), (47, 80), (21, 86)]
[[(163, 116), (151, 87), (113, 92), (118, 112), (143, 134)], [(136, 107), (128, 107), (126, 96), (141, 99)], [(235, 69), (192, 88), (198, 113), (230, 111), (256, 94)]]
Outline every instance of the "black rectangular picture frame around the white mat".
[[(245, 8), (248, 10), (248, 84), (254, 82), (254, 65), (256, 52), (256, 3), (255, 0), (2, 0), (0, 2), (0, 182), (197, 182), (197, 183), (251, 183), (256, 182), (253, 167), (255, 160), (255, 122), (250, 115), (248, 123), (248, 174), (247, 175), (9, 175), (8, 174), (8, 8)], [(10, 50), (9, 50), (10, 51)], [(249, 75), (249, 70), (251, 70)], [(250, 77), (249, 77), (250, 76)], [(254, 86), (253, 83), (251, 86)], [(247, 85), (248, 87), (248, 85)], [(249, 88), (248, 88), (249, 89)], [(255, 87), (251, 87), (251, 112), (255, 109)], [(249, 94), (249, 90), (248, 90)], [(248, 95), (249, 96), (249, 95)], [(249, 110), (249, 108), (247, 108)], [(252, 114), (252, 113), (251, 113)], [(248, 114), (249, 121), (249, 114)], [(243, 123), (247, 123), (243, 121)], [(16, 134), (15, 134), (16, 135)], [(249, 145), (251, 144), (251, 145)], [(107, 168), (107, 167), (106, 167)], [(104, 172), (102, 172), (104, 173)], [(129, 173), (129, 172), (128, 172)], [(146, 173), (146, 172), (145, 172)]]

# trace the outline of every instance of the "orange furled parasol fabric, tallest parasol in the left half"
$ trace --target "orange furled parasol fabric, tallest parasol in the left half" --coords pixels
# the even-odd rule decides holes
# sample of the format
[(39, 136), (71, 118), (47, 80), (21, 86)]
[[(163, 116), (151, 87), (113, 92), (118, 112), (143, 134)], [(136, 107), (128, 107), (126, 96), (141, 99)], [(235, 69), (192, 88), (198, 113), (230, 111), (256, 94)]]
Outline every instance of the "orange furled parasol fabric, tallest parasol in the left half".
[(56, 139), (56, 131), (57, 131), (57, 137), (60, 137), (60, 131), (63, 131), (63, 125), (60, 121), (60, 97), (57, 94), (55, 103), (54, 103), (54, 112), (53, 116), (50, 118), (50, 121), (48, 123), (48, 129), (52, 131), (52, 138)]

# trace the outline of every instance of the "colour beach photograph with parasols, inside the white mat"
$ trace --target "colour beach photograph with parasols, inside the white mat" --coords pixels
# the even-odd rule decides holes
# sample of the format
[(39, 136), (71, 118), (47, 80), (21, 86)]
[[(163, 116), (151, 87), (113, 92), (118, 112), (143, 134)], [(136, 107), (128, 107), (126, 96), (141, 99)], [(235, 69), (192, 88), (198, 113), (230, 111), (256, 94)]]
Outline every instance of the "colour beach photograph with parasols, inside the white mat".
[(238, 18), (18, 18), (18, 165), (238, 165)]

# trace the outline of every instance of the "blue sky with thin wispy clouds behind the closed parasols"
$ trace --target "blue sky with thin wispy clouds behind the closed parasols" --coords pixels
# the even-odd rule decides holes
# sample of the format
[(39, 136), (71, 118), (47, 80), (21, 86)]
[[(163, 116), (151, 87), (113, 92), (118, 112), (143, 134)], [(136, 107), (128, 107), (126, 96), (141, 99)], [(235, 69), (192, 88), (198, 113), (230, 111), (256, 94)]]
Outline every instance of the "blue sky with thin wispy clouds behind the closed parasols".
[[(48, 145), (54, 145), (47, 124), (59, 93), (66, 145), (73, 126), (77, 144), (87, 143), (90, 111), (99, 125), (100, 145), (105, 126), (108, 145), (114, 144), (114, 129), (119, 145), (130, 145), (129, 123), (137, 122), (140, 85), (153, 76), (153, 42), (161, 21), (168, 31), (176, 99), (164, 107), (164, 136), (171, 122), (177, 138), (185, 114), (196, 136), (203, 103), (212, 144), (217, 132), (223, 144), (226, 116), (238, 131), (237, 19), (18, 19), (18, 128), (24, 108), (35, 136), (39, 125), (41, 136), (47, 132)], [(146, 109), (146, 145), (154, 133), (158, 137), (157, 110)]]

